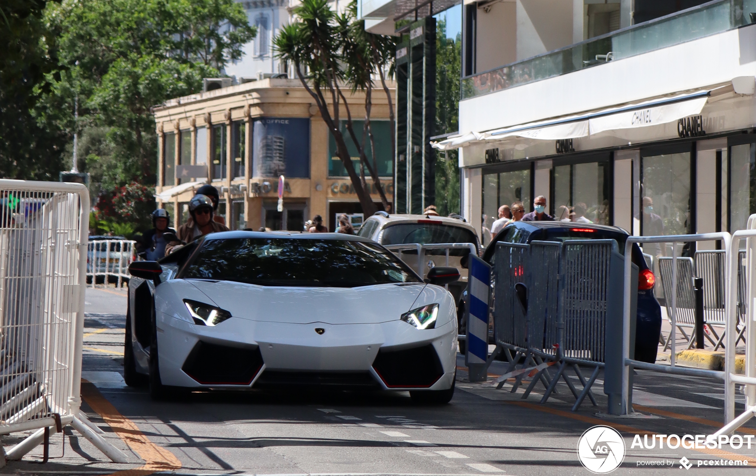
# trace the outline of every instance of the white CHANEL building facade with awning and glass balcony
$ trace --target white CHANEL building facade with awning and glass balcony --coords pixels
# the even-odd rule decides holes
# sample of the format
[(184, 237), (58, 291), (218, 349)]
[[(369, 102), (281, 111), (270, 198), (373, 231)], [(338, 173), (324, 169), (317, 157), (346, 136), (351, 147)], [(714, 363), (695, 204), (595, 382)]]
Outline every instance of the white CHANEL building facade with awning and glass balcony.
[(756, 2), (465, 3), (460, 131), (434, 147), (460, 150), (484, 243), (499, 206), (539, 195), (555, 219), (636, 235), (745, 227)]

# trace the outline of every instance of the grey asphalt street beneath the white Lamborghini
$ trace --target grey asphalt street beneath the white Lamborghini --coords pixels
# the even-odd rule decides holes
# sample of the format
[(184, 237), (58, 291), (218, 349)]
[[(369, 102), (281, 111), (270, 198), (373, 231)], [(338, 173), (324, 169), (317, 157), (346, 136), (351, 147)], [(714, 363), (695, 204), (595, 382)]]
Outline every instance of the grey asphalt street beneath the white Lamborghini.
[[(0, 474), (587, 475), (576, 448), (594, 425), (612, 426), (624, 437), (626, 456), (613, 474), (669, 474), (680, 471), (683, 456), (692, 463), (689, 471), (711, 474), (743, 474), (756, 465), (756, 438), (750, 449), (739, 450), (631, 447), (636, 434), (711, 434), (722, 420), (721, 384), (646, 372), (635, 380), (638, 413), (624, 418), (604, 413), (601, 375), (593, 386), (597, 406), (585, 400), (572, 412), (575, 398), (564, 382), (545, 404), (539, 403), (540, 384), (523, 400), (522, 387), (512, 392), (513, 380), (500, 390), (492, 384), (505, 372), (504, 363), (491, 366), (489, 382), (472, 383), (461, 355), (457, 391), (443, 406), (414, 404), (406, 393), (304, 390), (203, 392), (153, 402), (146, 388), (126, 387), (122, 379), (125, 307), (125, 292), (87, 290), (82, 410), (129, 463), (110, 462), (66, 428), (51, 437), (48, 463), (39, 464), (38, 447), (20, 462), (8, 462)], [(580, 391), (575, 373), (569, 375)], [(739, 434), (756, 435), (754, 423)], [(8, 450), (30, 433), (7, 435), (2, 442)], [(715, 459), (720, 463), (714, 465)], [(735, 459), (749, 466), (727, 466)], [(699, 461), (707, 465), (699, 467)]]

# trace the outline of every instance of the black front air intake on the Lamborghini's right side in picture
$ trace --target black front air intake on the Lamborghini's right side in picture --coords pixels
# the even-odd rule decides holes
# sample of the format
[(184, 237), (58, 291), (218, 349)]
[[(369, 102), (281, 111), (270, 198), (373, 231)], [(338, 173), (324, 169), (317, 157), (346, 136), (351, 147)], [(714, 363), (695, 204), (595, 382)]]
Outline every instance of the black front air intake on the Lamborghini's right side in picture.
[(373, 369), (388, 388), (428, 388), (444, 375), (432, 345), (401, 351), (380, 349)]

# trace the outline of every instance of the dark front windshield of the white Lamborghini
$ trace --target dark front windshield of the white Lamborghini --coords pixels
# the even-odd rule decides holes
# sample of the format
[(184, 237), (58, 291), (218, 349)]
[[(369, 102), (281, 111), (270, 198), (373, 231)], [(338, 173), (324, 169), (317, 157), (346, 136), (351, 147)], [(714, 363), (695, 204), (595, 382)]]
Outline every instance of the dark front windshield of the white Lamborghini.
[(206, 240), (178, 278), (261, 286), (355, 287), (422, 283), (406, 264), (371, 243), (348, 240)]

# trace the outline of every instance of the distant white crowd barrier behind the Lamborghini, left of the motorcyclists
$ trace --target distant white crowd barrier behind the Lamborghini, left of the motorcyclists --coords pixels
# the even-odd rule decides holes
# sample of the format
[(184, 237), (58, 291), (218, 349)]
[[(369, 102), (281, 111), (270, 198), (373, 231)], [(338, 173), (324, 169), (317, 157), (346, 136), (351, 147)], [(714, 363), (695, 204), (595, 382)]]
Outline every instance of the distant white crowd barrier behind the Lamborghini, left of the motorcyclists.
[(95, 287), (98, 277), (103, 277), (105, 286), (110, 278), (122, 286), (131, 277), (129, 264), (137, 261), (136, 242), (132, 240), (91, 240), (87, 244), (87, 281)]

